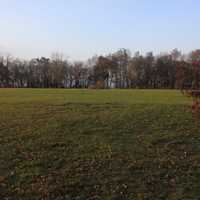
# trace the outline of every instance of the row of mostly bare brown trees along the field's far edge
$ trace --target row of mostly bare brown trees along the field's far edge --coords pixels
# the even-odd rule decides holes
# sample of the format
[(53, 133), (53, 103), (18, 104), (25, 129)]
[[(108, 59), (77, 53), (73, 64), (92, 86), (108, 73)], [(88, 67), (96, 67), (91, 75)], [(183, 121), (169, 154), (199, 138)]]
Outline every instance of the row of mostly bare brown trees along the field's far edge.
[(29, 61), (0, 56), (0, 87), (6, 88), (199, 88), (200, 50), (145, 56), (127, 49), (87, 62), (59, 53)]

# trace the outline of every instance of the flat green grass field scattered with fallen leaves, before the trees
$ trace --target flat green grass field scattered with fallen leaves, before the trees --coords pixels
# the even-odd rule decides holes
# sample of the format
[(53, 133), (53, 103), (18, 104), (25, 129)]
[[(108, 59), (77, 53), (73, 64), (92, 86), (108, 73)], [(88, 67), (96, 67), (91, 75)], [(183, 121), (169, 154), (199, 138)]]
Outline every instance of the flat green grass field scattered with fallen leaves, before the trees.
[(0, 199), (199, 199), (189, 104), (172, 90), (0, 89)]

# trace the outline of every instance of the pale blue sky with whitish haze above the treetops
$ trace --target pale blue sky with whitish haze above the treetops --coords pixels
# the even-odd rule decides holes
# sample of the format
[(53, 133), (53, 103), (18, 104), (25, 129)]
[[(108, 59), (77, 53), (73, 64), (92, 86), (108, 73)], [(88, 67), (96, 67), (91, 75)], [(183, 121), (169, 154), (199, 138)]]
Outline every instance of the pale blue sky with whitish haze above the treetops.
[(85, 60), (200, 48), (199, 0), (0, 0), (0, 52)]

